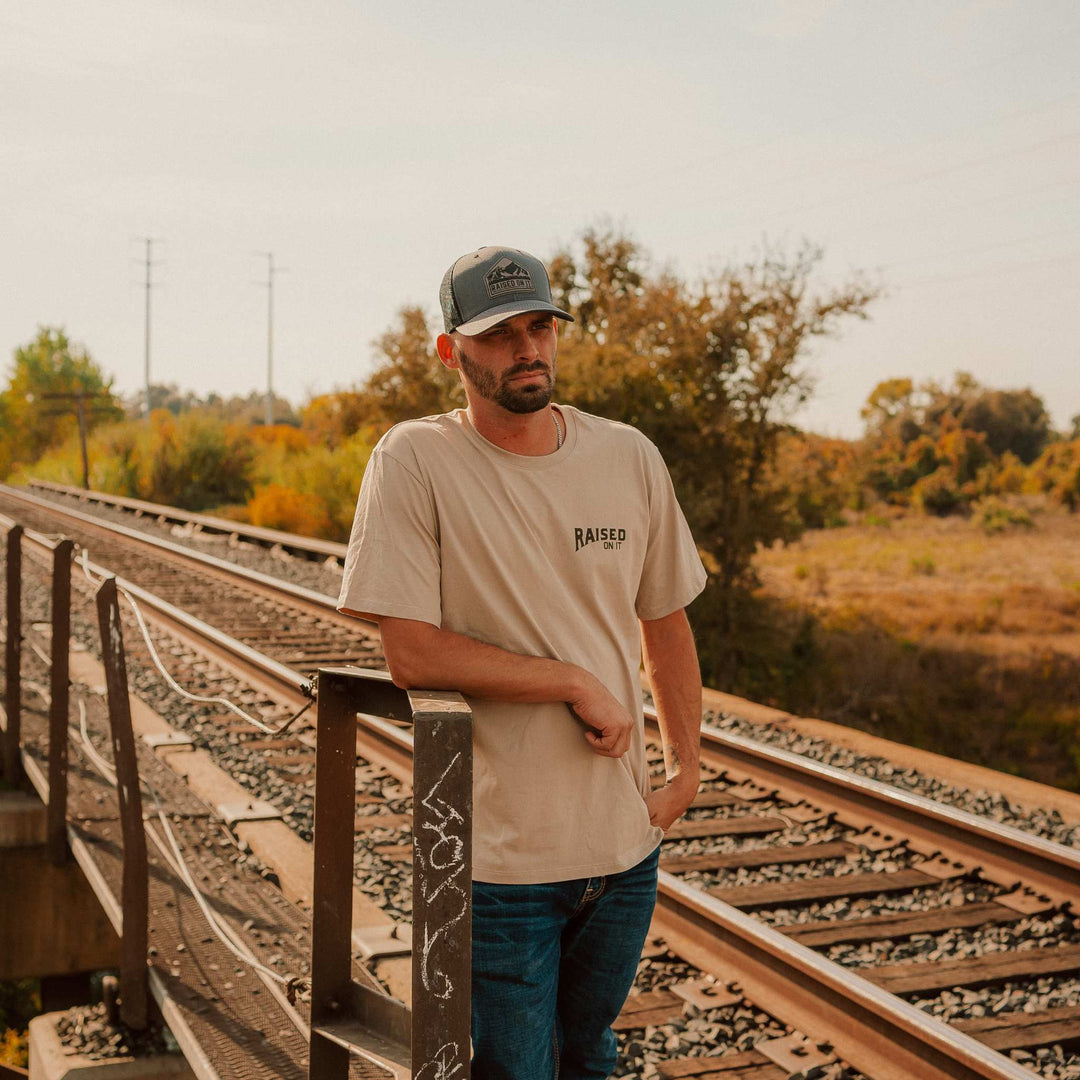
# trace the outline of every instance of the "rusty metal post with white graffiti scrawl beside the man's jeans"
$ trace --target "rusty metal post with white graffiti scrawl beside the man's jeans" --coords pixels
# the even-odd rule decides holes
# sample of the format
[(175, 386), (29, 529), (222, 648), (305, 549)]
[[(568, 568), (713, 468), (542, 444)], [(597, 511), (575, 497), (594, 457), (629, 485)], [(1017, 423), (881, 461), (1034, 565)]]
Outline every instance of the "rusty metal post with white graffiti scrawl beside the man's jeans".
[(413, 1075), (469, 1080), (472, 715), (458, 694), (413, 708)]

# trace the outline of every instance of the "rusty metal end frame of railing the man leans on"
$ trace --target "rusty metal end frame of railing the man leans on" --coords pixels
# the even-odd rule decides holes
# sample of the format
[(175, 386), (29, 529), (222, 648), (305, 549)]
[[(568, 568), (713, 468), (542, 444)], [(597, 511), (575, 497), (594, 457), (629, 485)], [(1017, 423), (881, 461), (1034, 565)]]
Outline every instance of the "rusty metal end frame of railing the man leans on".
[[(351, 975), (359, 713), (413, 725), (410, 1012)], [(386, 672), (320, 669), (314, 846), (309, 1076), (346, 1080), (353, 1052), (410, 1065), (417, 1080), (468, 1080), (472, 712), (460, 694), (402, 690)], [(364, 1051), (378, 1044), (373, 1035), (390, 1043), (380, 1056)]]

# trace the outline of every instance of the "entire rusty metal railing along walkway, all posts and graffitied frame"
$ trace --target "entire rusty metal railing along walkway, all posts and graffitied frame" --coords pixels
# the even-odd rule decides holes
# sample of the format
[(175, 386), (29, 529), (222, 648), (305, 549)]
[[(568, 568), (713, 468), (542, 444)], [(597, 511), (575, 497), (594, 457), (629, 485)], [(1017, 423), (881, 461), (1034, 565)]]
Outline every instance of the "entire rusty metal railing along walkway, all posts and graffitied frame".
[[(23, 775), (21, 728), (22, 544), (24, 529), (0, 515), (6, 535), (3, 765)], [(52, 554), (49, 751), (31, 779), (46, 800), (46, 851), (70, 859), (67, 825), (71, 629), (71, 540), (27, 535)], [(87, 575), (89, 576), (89, 575)], [(149, 1018), (148, 861), (118, 583), (97, 584), (112, 766), (123, 840), (121, 1017)], [(43, 657), (43, 653), (42, 653)], [(468, 1080), (472, 921), (472, 713), (443, 691), (401, 690), (386, 672), (321, 669), (315, 752), (314, 908), (311, 945), (310, 1072), (346, 1080), (350, 1054), (395, 1077)], [(411, 1008), (352, 978), (356, 716), (410, 724), (413, 744)], [(389, 727), (389, 725), (387, 725)], [(405, 747), (407, 750), (407, 747)], [(29, 766), (27, 767), (29, 768)], [(48, 782), (45, 778), (48, 777)]]

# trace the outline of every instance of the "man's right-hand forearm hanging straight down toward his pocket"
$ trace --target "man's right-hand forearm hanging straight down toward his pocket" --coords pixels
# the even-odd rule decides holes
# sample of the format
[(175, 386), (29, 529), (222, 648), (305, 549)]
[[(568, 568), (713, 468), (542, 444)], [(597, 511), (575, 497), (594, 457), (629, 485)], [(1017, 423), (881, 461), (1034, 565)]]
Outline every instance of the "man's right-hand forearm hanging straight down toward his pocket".
[(701, 670), (686, 613), (679, 610), (643, 622), (642, 646), (667, 780), (697, 791), (701, 773)]

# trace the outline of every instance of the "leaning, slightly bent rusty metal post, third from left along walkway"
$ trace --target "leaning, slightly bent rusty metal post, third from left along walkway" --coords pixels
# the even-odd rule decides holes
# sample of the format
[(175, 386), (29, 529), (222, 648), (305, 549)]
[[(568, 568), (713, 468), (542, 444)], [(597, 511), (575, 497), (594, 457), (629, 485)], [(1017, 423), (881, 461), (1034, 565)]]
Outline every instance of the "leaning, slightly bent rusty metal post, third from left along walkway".
[(147, 903), (149, 893), (143, 796), (138, 786), (138, 759), (127, 698), (127, 664), (117, 599), (117, 579), (106, 578), (97, 590), (97, 622), (102, 634), (105, 688), (109, 702), (112, 764), (117, 770), (117, 798), (124, 840), (121, 891), (123, 937), (120, 951), (120, 1018), (141, 1030), (148, 1020), (146, 971)]

